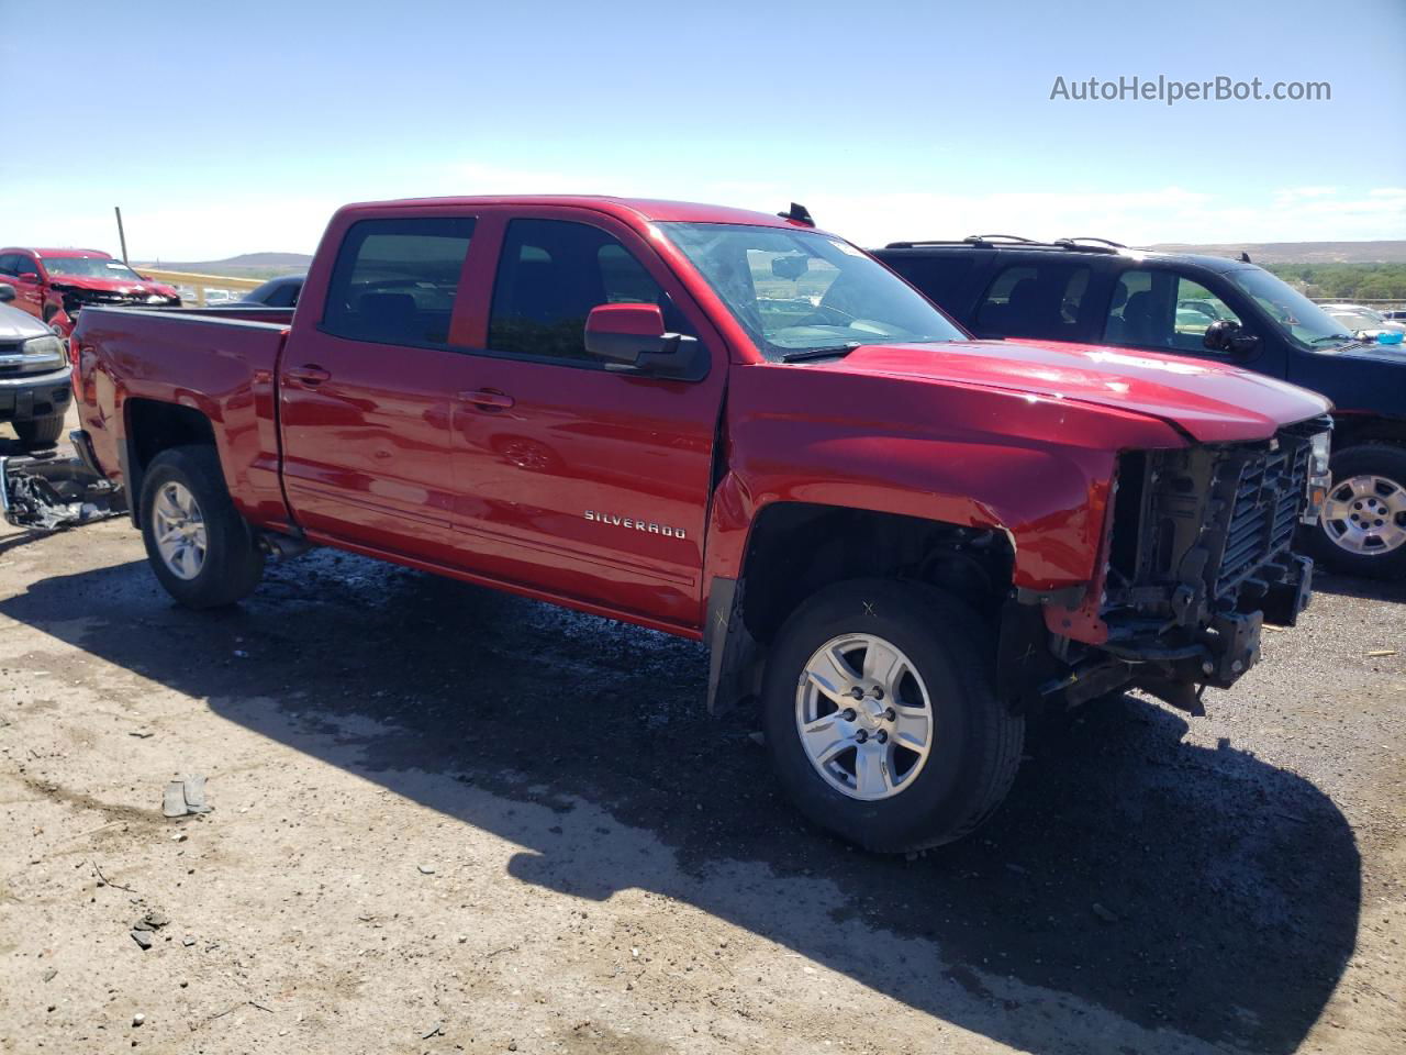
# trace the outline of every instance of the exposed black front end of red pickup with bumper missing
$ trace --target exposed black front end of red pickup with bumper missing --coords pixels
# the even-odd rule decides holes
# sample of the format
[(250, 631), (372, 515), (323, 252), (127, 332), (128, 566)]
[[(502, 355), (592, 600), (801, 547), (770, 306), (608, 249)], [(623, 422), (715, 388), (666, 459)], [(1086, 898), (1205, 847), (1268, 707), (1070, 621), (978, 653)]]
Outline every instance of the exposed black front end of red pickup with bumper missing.
[(1076, 606), (1010, 606), (1002, 651), (1024, 661), (1008, 695), (1071, 706), (1140, 688), (1202, 713), (1205, 686), (1258, 661), (1263, 625), (1294, 626), (1309, 603), (1313, 563), (1292, 544), (1326, 494), (1330, 428), (1123, 453), (1102, 587)]

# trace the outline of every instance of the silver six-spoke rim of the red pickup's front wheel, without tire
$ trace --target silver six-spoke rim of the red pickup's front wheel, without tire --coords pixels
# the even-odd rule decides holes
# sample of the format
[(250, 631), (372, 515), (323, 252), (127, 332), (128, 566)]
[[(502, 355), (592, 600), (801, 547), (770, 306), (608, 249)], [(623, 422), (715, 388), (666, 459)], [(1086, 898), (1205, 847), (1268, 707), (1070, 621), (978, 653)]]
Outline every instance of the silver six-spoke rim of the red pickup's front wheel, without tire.
[(810, 764), (851, 799), (876, 802), (912, 786), (932, 748), (932, 701), (918, 668), (891, 641), (844, 634), (806, 663), (796, 731)]

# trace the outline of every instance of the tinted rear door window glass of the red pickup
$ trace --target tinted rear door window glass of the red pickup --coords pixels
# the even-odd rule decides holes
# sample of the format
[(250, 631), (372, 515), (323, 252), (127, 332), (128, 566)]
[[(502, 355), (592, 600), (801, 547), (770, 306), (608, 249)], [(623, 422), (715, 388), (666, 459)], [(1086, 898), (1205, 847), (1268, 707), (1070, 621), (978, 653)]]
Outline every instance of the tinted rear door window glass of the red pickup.
[(337, 250), (322, 328), (352, 340), (444, 346), (474, 221), (363, 219)]

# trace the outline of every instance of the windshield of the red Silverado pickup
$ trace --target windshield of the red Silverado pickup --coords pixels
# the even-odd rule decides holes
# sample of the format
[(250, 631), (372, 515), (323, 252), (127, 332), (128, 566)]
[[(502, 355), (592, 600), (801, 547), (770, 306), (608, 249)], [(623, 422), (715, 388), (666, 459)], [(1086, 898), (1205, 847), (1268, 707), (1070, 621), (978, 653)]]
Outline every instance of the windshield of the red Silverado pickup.
[(744, 224), (659, 224), (768, 359), (811, 349), (966, 340), (848, 242)]

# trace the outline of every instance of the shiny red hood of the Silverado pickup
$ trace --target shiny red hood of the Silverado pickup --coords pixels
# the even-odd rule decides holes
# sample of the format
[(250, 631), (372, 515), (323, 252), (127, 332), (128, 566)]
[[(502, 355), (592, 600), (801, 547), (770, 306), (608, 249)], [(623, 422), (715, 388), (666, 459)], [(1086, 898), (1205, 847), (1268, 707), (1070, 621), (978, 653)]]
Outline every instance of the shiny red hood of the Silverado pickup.
[(1201, 443), (1267, 439), (1331, 409), (1317, 392), (1234, 366), (1056, 340), (866, 345), (821, 369), (1077, 399), (1157, 418)]

